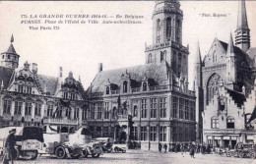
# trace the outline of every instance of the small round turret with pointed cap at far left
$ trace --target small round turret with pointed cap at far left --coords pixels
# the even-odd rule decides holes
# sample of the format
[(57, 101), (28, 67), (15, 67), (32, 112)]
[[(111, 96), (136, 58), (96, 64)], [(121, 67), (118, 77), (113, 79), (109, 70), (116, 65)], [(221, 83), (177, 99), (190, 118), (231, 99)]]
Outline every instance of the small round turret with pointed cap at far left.
[(11, 37), (11, 44), (8, 50), (4, 53), (1, 53), (1, 66), (17, 69), (19, 67), (19, 58), (13, 46), (14, 36)]

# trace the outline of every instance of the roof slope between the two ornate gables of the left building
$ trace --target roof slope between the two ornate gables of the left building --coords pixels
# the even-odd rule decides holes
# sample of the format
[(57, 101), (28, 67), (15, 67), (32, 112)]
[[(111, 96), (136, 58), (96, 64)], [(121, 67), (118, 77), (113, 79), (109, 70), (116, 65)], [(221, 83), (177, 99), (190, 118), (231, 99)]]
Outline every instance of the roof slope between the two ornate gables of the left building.
[(58, 84), (58, 78), (44, 76), (44, 75), (37, 75), (37, 81), (43, 93), (49, 93), (50, 95), (55, 94), (57, 84)]

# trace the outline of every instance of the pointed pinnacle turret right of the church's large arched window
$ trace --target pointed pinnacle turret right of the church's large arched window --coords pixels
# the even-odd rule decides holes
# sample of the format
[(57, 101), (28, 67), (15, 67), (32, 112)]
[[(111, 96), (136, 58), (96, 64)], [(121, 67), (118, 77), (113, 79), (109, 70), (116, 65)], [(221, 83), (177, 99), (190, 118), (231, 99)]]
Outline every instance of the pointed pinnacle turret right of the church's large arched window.
[(237, 80), (236, 56), (234, 54), (233, 48), (233, 39), (230, 33), (230, 38), (226, 50), (226, 85), (230, 89), (235, 89), (234, 83)]

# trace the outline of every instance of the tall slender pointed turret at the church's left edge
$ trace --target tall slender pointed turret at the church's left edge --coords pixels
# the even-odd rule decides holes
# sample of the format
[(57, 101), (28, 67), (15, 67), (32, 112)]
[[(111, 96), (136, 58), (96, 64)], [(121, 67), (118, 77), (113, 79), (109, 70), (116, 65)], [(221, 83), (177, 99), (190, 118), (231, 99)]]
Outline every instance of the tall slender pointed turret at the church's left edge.
[(203, 91), (203, 77), (202, 77), (202, 59), (199, 43), (197, 45), (197, 51), (195, 54), (196, 61), (194, 63), (195, 82), (194, 90), (196, 93), (196, 141), (202, 141), (203, 139), (203, 119), (202, 112), (204, 109), (204, 91)]

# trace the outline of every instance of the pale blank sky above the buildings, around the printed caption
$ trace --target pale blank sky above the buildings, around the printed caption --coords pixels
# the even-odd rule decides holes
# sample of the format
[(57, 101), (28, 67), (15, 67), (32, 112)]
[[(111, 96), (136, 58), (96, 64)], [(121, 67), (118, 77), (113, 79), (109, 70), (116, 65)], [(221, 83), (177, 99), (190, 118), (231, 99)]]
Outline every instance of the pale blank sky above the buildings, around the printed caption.
[[(101, 2), (0, 2), (0, 52), (5, 52), (14, 34), (14, 47), (25, 61), (37, 63), (38, 74), (58, 76), (63, 67), (64, 78), (70, 71), (81, 77), (85, 88), (93, 82), (98, 63), (103, 70), (145, 64), (145, 43), (152, 44), (152, 13), (154, 1)], [(189, 82), (193, 82), (193, 63), (197, 42), (201, 53), (207, 54), (215, 37), (228, 42), (234, 38), (237, 1), (182, 1), (183, 45), (189, 44)], [(256, 1), (247, 1), (251, 46), (256, 47)], [(202, 14), (224, 14), (226, 17), (202, 17)], [(62, 25), (58, 30), (32, 30), (21, 24), (21, 15), (96, 14), (143, 16), (143, 24), (134, 25)], [(255, 37), (253, 37), (255, 36)], [(234, 40), (234, 39), (233, 39)]]

